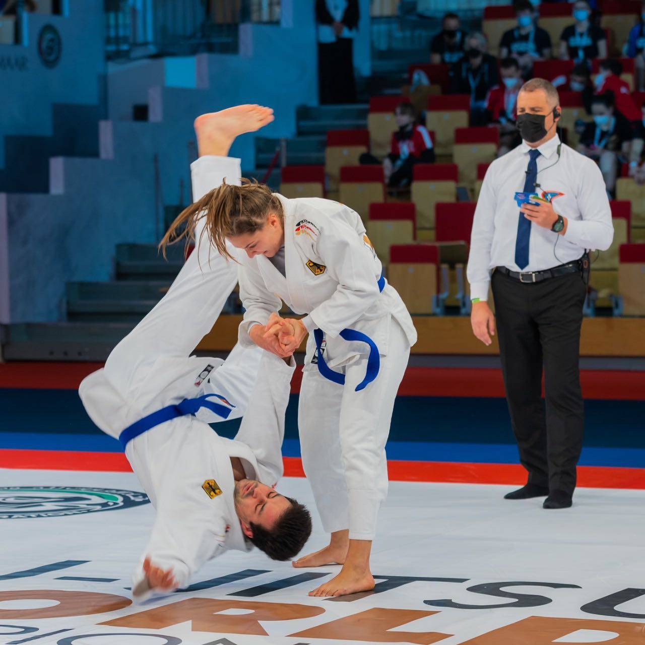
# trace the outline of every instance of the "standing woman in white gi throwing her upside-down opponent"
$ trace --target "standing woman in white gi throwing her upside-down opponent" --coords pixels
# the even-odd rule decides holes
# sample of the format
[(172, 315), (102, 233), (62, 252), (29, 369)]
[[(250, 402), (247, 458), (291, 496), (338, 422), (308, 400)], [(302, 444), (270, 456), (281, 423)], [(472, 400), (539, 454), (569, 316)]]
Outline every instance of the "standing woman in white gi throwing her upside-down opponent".
[[(343, 564), (339, 575), (310, 595), (371, 590), (370, 551), (388, 488), (385, 444), (416, 341), (410, 314), (382, 277), (361, 218), (347, 206), (286, 199), (266, 186), (243, 183), (223, 184), (184, 211), (181, 222), (190, 225), (204, 212), (219, 252), (230, 255), (227, 244), (246, 251), (239, 344), (284, 356), (313, 332), (299, 432), (304, 470), (332, 535), (326, 548), (293, 564)], [(281, 319), (281, 299), (307, 315)]]

